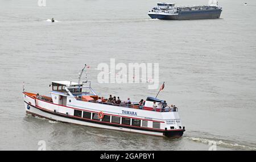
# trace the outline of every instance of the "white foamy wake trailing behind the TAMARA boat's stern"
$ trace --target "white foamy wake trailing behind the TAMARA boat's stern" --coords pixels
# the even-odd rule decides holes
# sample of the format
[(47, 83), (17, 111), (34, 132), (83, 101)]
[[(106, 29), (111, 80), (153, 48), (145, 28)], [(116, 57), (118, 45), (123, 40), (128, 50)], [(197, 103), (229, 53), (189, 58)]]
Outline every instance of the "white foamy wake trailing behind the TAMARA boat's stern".
[(211, 140), (211, 139), (191, 138), (191, 137), (186, 137), (186, 138), (189, 139), (189, 140), (193, 140), (194, 142), (201, 142), (201, 143), (205, 143), (205, 144), (216, 143), (217, 146), (243, 148), (243, 149), (248, 149), (248, 150), (256, 150), (256, 147), (245, 146), (245, 145), (237, 144), (237, 143), (223, 142), (222, 140)]

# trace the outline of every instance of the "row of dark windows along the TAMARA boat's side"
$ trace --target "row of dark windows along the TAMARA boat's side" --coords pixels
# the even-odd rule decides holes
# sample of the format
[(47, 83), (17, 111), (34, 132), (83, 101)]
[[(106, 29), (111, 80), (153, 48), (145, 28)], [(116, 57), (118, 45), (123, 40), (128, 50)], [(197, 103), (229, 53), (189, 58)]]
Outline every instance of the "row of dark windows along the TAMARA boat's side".
[[(80, 118), (85, 118), (85, 119), (93, 119), (96, 121), (100, 121), (100, 118), (98, 118), (97, 113), (90, 113), (87, 111), (80, 111), (80, 110), (74, 110), (74, 116), (80, 117)], [(102, 122), (109, 122), (110, 123), (110, 115), (104, 115), (104, 117), (101, 120)], [(141, 119), (131, 119), (131, 118), (125, 118), (125, 117), (116, 117), (112, 116), (111, 123), (117, 123), (128, 126), (137, 126), (137, 127), (148, 127), (148, 121), (143, 121)], [(142, 122), (142, 123), (141, 123)], [(160, 122), (153, 122), (153, 128), (160, 128)]]

